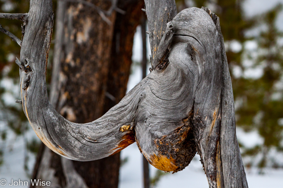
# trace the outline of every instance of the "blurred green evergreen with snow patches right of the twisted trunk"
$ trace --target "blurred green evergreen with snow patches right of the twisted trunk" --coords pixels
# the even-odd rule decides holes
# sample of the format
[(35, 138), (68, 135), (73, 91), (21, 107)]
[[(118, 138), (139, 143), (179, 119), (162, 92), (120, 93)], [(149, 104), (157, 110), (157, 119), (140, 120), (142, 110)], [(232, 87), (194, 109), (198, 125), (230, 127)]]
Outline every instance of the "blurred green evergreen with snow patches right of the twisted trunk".
[[(265, 166), (283, 167), (277, 164), (274, 156), (270, 156), (270, 149), (277, 152), (282, 151), (282, 129), (283, 129), (283, 45), (279, 43), (283, 32), (276, 27), (276, 18), (282, 10), (279, 4), (267, 13), (259, 16), (259, 25), (263, 29), (258, 37), (258, 48), (253, 58), (247, 51), (246, 56), (250, 58), (251, 65), (244, 66), (243, 71), (262, 70), (259, 78), (250, 77), (244, 74), (237, 79), (235, 85), (236, 96), (241, 102), (237, 110), (237, 125), (246, 130), (257, 129), (263, 138), (263, 145), (257, 145), (245, 150), (243, 155), (260, 156), (255, 161), (258, 167)], [(253, 162), (250, 162), (250, 165)]]

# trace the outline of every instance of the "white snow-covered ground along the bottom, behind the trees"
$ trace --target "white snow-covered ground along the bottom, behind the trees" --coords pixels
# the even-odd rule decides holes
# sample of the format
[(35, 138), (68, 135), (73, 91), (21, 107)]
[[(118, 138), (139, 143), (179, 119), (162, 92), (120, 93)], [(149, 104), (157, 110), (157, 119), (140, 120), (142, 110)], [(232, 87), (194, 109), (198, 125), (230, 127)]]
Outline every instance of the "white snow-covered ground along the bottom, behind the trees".
[[(4, 164), (0, 169), (0, 180), (5, 179), (7, 184), (3, 187), (28, 187), (28, 186), (9, 186), (11, 179), (28, 181), (30, 178), (24, 171), (25, 146), (24, 138), (18, 137), (16, 140), (13, 133), (10, 133), (7, 143), (13, 141), (13, 144), (7, 145), (4, 152)], [(12, 149), (13, 148), (13, 149)], [(12, 149), (12, 150), (11, 150)], [(128, 146), (121, 152), (121, 159), (127, 158), (128, 161), (120, 169), (119, 188), (142, 188), (142, 154), (136, 143)], [(184, 170), (166, 174), (158, 182), (157, 187), (180, 187), (180, 188), (207, 188), (208, 183), (206, 175), (199, 161), (199, 156), (195, 156), (191, 164)], [(35, 157), (29, 155), (29, 168), (32, 169)], [(156, 169), (150, 165), (150, 175), (154, 176)], [(249, 188), (282, 188), (283, 170), (265, 169), (264, 174), (259, 174), (257, 169), (246, 169), (246, 175)]]

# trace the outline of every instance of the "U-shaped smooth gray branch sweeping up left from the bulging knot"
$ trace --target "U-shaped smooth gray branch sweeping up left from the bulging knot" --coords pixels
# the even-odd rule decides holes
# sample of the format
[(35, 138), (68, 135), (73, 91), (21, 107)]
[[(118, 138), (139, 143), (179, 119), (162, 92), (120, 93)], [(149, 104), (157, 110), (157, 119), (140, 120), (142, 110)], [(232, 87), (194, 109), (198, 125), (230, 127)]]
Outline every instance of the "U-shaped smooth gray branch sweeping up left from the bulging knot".
[[(86, 124), (63, 118), (49, 103), (46, 63), (53, 13), (49, 0), (30, 2), (29, 22), (19, 65), (24, 112), (38, 137), (53, 151), (69, 159), (90, 161), (112, 155), (133, 143), (133, 117), (138, 108), (141, 83), (104, 116)], [(29, 67), (29, 71), (25, 71)], [(94, 107), (95, 108), (95, 107)]]

